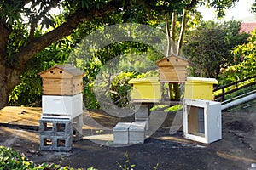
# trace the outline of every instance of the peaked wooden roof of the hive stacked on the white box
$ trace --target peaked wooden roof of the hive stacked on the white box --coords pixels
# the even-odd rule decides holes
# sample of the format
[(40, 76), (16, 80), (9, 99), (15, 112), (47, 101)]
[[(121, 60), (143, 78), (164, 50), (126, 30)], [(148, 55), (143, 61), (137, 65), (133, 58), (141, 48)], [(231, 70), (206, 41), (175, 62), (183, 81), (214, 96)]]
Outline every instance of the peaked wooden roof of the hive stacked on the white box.
[[(63, 71), (64, 74), (60, 75), (53, 75), (49, 74), (50, 71)], [(84, 76), (84, 71), (74, 67), (73, 65), (55, 65), (45, 71), (41, 71), (38, 73), (41, 78), (44, 77), (56, 77), (56, 78), (72, 78), (77, 76)]]

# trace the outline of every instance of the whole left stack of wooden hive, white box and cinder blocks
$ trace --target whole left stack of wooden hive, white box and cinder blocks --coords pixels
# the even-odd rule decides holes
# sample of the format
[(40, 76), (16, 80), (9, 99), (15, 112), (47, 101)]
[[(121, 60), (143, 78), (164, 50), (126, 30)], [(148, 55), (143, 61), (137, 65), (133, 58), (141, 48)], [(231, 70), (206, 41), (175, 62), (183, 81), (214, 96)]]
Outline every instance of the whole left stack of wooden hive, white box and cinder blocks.
[(38, 73), (43, 79), (40, 150), (69, 151), (82, 136), (84, 71), (55, 65)]

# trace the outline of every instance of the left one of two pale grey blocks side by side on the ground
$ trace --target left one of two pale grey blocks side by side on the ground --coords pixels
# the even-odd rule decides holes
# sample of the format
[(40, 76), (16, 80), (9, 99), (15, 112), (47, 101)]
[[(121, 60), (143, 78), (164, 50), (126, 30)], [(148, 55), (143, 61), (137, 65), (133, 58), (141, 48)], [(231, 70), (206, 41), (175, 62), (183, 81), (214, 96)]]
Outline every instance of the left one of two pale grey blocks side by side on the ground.
[(129, 127), (131, 122), (119, 122), (113, 127), (113, 143), (128, 144), (129, 143)]

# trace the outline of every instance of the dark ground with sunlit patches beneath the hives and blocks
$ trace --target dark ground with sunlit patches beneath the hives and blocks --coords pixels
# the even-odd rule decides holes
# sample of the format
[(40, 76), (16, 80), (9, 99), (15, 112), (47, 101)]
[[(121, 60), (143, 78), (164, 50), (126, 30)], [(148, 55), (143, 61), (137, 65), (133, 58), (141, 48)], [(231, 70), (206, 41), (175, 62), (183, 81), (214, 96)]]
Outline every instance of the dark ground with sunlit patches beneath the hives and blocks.
[[(21, 109), (22, 110), (22, 109)], [(19, 111), (21, 111), (19, 110)], [(9, 108), (12, 111), (12, 108)], [(29, 115), (32, 110), (24, 110), (17, 116)], [(40, 111), (40, 110), (38, 110)], [(15, 112), (15, 111), (14, 111)], [(0, 111), (3, 120), (4, 111)], [(11, 113), (8, 113), (11, 114)], [(13, 113), (13, 115), (15, 115)], [(37, 115), (36, 113), (33, 113)], [(22, 116), (21, 115), (21, 116)], [(133, 169), (248, 169), (251, 163), (256, 163), (256, 112), (224, 112), (222, 116), (223, 139), (212, 144), (201, 144), (183, 138), (182, 128), (177, 133), (170, 134), (173, 114), (168, 113), (165, 122), (144, 144), (134, 144), (126, 147), (111, 147), (108, 133), (117, 122), (132, 122), (133, 116), (115, 118), (103, 111), (90, 111), (90, 115), (103, 127), (102, 131), (90, 126), (83, 128), (84, 138), (73, 142), (73, 150), (69, 152), (42, 151), (39, 148), (37, 116), (31, 116), (33, 121), (20, 123), (7, 121), (0, 123), (0, 144), (11, 146), (25, 153), (29, 160), (36, 163), (54, 162), (63, 166), (75, 168), (95, 167), (99, 170), (119, 169), (118, 164), (135, 165)], [(86, 116), (84, 116), (84, 119)], [(90, 124), (90, 123), (89, 123)], [(101, 139), (100, 137), (104, 136)], [(107, 137), (106, 137), (107, 135)], [(98, 138), (97, 138), (98, 136)], [(102, 144), (101, 144), (102, 142)]]

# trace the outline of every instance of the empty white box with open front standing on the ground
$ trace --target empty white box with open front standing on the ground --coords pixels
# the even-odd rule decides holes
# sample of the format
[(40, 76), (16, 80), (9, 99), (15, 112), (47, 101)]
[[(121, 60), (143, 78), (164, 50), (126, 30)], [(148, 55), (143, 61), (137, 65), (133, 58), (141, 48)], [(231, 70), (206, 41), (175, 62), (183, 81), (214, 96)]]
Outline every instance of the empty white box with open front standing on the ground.
[(184, 138), (205, 144), (222, 138), (219, 102), (185, 99), (183, 110)]

